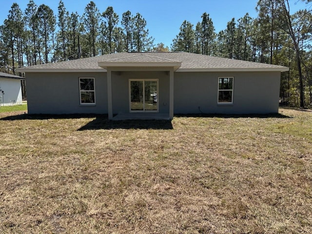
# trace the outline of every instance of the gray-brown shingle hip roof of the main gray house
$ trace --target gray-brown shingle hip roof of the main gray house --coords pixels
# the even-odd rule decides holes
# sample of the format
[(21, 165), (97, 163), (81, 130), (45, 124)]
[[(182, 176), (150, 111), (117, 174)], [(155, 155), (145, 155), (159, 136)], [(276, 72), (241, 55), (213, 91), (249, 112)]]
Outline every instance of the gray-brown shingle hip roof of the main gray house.
[(20, 68), (20, 72), (31, 71), (103, 71), (98, 62), (118, 63), (157, 63), (157, 62), (181, 62), (177, 71), (288, 71), (288, 67), (266, 63), (250, 62), (235, 59), (225, 59), (207, 55), (199, 55), (187, 52), (150, 52), (150, 53), (117, 53), (97, 57), (76, 59), (63, 62), (47, 63), (37, 66)]

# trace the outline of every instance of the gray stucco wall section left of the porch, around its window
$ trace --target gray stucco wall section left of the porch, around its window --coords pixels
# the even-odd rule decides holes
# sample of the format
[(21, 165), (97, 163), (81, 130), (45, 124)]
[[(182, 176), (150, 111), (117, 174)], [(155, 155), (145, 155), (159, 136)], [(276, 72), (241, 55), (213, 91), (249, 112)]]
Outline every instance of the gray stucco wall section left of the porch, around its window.
[[(95, 105), (81, 105), (79, 78), (95, 78)], [(29, 114), (107, 114), (106, 73), (26, 73)]]

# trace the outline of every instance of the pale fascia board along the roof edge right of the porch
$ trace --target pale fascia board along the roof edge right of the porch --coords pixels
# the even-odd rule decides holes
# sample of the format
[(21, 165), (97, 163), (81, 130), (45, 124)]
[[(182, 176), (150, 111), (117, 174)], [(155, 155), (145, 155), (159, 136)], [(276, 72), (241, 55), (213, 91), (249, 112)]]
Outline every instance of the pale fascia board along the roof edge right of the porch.
[(176, 72), (288, 72), (289, 67), (270, 68), (179, 68)]

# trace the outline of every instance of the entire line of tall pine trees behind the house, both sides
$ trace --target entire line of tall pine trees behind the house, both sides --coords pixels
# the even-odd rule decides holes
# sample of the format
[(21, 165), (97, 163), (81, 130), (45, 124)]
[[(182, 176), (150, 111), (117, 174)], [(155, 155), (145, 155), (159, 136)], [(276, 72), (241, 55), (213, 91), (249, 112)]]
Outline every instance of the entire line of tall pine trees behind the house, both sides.
[[(309, 6), (312, 0), (303, 0)], [(292, 0), (292, 4), (294, 1)], [(90, 1), (82, 16), (69, 13), (62, 0), (57, 16), (45, 5), (29, 0), (22, 11), (13, 3), (0, 26), (1, 71), (17, 67), (87, 58), (117, 52), (185, 51), (290, 67), (281, 77), (280, 97), (290, 106), (312, 106), (312, 15), (309, 7), (290, 14), (289, 0), (259, 0), (258, 16), (227, 23), (215, 32), (213, 20), (203, 13), (195, 25), (184, 20), (171, 48), (154, 44), (147, 22), (139, 13), (113, 7), (100, 12)]]

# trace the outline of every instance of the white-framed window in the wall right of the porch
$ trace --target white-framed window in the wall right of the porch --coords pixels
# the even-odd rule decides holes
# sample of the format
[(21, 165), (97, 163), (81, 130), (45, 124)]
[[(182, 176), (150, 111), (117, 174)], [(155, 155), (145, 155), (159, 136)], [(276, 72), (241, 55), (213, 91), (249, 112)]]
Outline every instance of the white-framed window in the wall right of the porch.
[(218, 103), (233, 103), (233, 77), (219, 77)]

